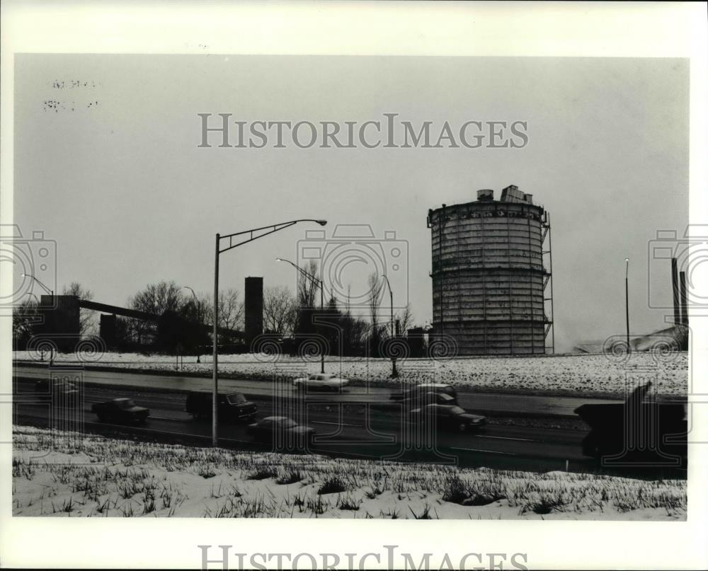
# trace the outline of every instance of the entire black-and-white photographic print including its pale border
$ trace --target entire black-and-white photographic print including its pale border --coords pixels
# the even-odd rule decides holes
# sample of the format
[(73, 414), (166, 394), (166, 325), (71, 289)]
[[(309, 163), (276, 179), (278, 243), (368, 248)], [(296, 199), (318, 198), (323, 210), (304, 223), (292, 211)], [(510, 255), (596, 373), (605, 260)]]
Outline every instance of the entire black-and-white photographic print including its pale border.
[[(210, 10), (222, 34), (228, 16), (299, 37), (276, 6)], [(493, 29), (594, 9), (534, 6), (498, 6)], [(312, 25), (406, 11), (306, 7), (324, 9)], [(476, 27), (485, 3), (413, 9), (476, 52), (435, 52), (430, 28), (430, 53), (307, 35), (227, 50), (177, 29), (171, 50), (123, 50), (110, 8), (94, 49), (12, 33), (3, 56), (5, 521), (177, 520), (190, 568), (525, 570), (588, 565), (580, 543), (576, 561), (515, 546), (526, 529), (552, 545), (588, 522), (680, 535), (704, 518), (704, 53), (481, 50), (507, 40)], [(598, 6), (612, 33), (617, 8)], [(212, 520), (232, 541), (197, 533)], [(238, 541), (249, 526), (270, 543)], [(304, 531), (328, 527), (378, 539), (345, 556)], [(285, 529), (307, 541), (284, 547)], [(508, 547), (453, 548), (448, 529), (508, 529)], [(707, 563), (693, 533), (676, 567)]]

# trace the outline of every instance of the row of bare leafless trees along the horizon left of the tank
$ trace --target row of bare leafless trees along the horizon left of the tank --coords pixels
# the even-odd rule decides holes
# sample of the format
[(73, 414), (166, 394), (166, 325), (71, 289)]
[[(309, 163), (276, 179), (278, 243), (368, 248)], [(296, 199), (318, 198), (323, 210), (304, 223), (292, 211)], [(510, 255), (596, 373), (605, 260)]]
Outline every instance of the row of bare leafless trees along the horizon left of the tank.
[[(312, 262), (304, 268), (310, 275), (317, 275), (317, 265)], [(279, 338), (307, 337), (317, 333), (330, 342), (333, 352), (362, 354), (367, 343), (377, 345), (389, 333), (387, 322), (379, 321), (378, 276), (369, 278), (371, 298), (369, 320), (354, 315), (348, 306), (341, 307), (339, 300), (330, 297), (324, 310), (319, 308), (319, 284), (304, 275), (297, 284), (297, 295), (284, 286), (266, 287), (263, 292), (263, 329)], [(75, 295), (79, 299), (91, 300), (91, 290), (72, 282), (62, 290), (64, 295)], [(176, 339), (186, 340), (191, 347), (207, 345), (210, 338), (207, 328), (199, 325), (213, 323), (212, 299), (208, 294), (196, 293), (188, 287), (180, 287), (176, 282), (159, 282), (131, 296), (128, 306), (137, 311), (158, 316), (157, 321), (142, 321), (137, 318), (117, 318), (115, 341), (124, 349), (147, 347), (167, 348)], [(18, 345), (32, 334), (31, 316), (36, 312), (36, 302), (25, 301), (13, 319), (13, 333)], [(30, 319), (28, 319), (28, 316)], [(410, 307), (396, 316), (401, 334), (405, 335), (411, 325)], [(95, 311), (81, 309), (80, 327), (82, 335), (98, 334), (98, 316)], [(187, 324), (192, 324), (187, 328)], [(219, 293), (219, 323), (224, 330), (244, 329), (244, 301), (237, 289), (229, 288)], [(176, 333), (175, 329), (181, 329)], [(334, 333), (333, 333), (334, 332)], [(160, 339), (162, 338), (162, 342)], [(235, 338), (234, 338), (235, 339)], [(229, 342), (228, 335), (222, 339)]]

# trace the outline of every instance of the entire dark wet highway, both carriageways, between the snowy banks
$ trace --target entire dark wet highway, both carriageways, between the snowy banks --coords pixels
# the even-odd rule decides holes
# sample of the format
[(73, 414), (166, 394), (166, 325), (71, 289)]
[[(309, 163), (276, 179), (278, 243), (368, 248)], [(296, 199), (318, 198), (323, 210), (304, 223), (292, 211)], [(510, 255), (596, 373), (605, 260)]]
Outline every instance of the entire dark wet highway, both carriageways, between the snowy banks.
[[(37, 379), (47, 378), (46, 368), (18, 367), (13, 378), (14, 422), (78, 429), (110, 437), (210, 446), (210, 420), (194, 420), (185, 412), (186, 393), (198, 388), (211, 388), (210, 379), (129, 374), (124, 371), (79, 371), (79, 374), (85, 383), (83, 400), (76, 410), (64, 410), (52, 408), (48, 396), (35, 393)], [(69, 381), (76, 380), (68, 372), (67, 376)], [(258, 405), (258, 418), (289, 416), (299, 424), (314, 428), (316, 439), (312, 449), (307, 450), (312, 454), (455, 463), (459, 466), (524, 471), (567, 469), (585, 472), (596, 468), (593, 459), (581, 454), (581, 440), (586, 435), (583, 430), (509, 426), (491, 422), (478, 432), (424, 431), (407, 422), (406, 415), (401, 414), (401, 405), (389, 400), (391, 391), (385, 388), (352, 387), (341, 395), (308, 393), (299, 396), (289, 381), (268, 383), (224, 379), (219, 386), (222, 392), (246, 393)], [(138, 405), (150, 408), (151, 416), (146, 427), (108, 425), (97, 421), (91, 413), (91, 405), (120, 396), (128, 396)], [(503, 411), (515, 407), (515, 413), (523, 415), (526, 405), (539, 414), (554, 405), (566, 413), (569, 408), (593, 402), (593, 399), (562, 398), (554, 403), (548, 397), (461, 392), (459, 401), (463, 408), (472, 412), (486, 412), (485, 408), (491, 407), (493, 411), (507, 415)], [(219, 444), (239, 450), (270, 449), (270, 446), (253, 442), (246, 426), (238, 424), (219, 423)], [(636, 475), (677, 477), (675, 473), (646, 472)]]

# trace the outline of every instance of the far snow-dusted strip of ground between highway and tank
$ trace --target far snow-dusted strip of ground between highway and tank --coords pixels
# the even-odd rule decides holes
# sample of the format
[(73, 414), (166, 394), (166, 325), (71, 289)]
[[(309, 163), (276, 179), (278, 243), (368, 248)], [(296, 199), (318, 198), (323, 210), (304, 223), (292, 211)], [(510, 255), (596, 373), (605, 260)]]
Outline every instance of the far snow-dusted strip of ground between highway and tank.
[[(35, 354), (16, 352), (15, 359), (29, 361)], [(184, 357), (176, 367), (175, 357), (139, 353), (104, 353), (84, 359), (86, 365), (210, 374), (211, 357)], [(73, 353), (57, 355), (57, 362), (77, 362)], [(474, 391), (539, 393), (622, 398), (638, 383), (653, 383), (656, 393), (685, 396), (688, 379), (687, 352), (636, 352), (632, 354), (570, 354), (547, 357), (476, 357), (455, 359), (404, 359), (397, 364), (399, 379), (389, 379), (387, 359), (328, 357), (326, 370), (353, 383), (450, 383)], [(319, 372), (317, 357), (266, 354), (219, 355), (222, 374), (250, 379), (295, 377)]]

